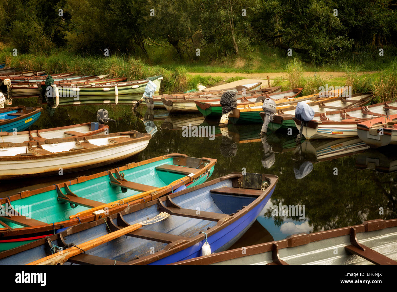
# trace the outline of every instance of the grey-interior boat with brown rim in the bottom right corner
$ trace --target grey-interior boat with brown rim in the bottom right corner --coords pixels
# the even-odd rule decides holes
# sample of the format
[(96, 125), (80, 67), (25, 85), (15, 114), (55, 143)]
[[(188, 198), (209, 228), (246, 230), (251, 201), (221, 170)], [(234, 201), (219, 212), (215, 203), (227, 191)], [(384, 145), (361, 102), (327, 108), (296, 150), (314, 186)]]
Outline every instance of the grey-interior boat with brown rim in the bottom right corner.
[(397, 219), (375, 219), (360, 225), (295, 234), (283, 240), (236, 248), (175, 264), (397, 265), (396, 260)]

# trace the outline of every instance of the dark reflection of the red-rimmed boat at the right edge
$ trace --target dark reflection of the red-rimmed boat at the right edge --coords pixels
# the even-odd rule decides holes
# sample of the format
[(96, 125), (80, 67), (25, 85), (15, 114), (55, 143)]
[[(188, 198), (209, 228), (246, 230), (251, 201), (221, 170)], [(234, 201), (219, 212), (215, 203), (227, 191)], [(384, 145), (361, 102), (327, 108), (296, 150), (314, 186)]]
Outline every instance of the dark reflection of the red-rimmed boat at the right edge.
[(357, 156), (356, 167), (360, 170), (371, 169), (381, 173), (397, 171), (395, 146), (385, 146), (380, 148), (380, 150), (368, 149)]

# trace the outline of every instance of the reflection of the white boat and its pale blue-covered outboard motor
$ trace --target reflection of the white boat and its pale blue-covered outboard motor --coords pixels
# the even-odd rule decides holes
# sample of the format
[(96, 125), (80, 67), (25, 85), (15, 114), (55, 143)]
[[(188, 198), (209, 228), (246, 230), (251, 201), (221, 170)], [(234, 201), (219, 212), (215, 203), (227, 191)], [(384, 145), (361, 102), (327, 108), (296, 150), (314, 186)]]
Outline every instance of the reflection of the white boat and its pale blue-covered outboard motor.
[(333, 140), (304, 140), (292, 155), (296, 161), (294, 173), (296, 179), (302, 179), (313, 170), (313, 164), (320, 161), (350, 156), (367, 150), (369, 146), (357, 137)]

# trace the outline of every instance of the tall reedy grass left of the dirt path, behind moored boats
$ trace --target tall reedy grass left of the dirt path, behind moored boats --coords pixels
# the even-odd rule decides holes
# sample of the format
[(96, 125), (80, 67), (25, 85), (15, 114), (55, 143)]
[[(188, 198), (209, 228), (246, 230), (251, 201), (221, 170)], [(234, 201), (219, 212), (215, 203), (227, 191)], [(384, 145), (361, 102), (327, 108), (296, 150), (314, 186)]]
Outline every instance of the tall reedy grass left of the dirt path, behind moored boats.
[[(17, 70), (45, 70), (48, 73), (75, 72), (76, 75), (109, 74), (110, 78), (127, 77), (128, 80), (163, 75), (161, 93), (183, 92), (196, 88), (198, 83), (213, 86), (222, 77), (189, 76), (184, 66), (166, 69), (150, 66), (143, 60), (128, 56), (80, 57), (68, 52), (53, 51), (51, 54), (18, 54), (12, 56), (11, 48), (0, 51), (0, 63)], [(242, 78), (242, 77), (241, 77)]]

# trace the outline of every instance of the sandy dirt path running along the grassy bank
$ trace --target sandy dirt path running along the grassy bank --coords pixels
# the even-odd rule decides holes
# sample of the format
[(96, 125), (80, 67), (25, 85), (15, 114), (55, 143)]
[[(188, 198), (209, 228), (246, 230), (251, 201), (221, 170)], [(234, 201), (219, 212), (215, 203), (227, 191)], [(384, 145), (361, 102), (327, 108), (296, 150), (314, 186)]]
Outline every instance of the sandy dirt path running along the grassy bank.
[[(307, 76), (313, 76), (314, 73), (317, 73), (321, 77), (343, 77), (345, 75), (345, 72), (303, 72), (303, 75), (305, 77)], [(372, 74), (376, 73), (376, 71), (366, 71), (366, 72), (359, 72), (359, 74)], [(247, 79), (267, 79), (267, 76), (270, 77), (270, 79), (274, 79), (276, 77), (286, 77), (287, 73), (285, 72), (278, 72), (278, 73), (272, 73), (272, 72), (264, 72), (264, 73), (193, 73), (189, 72), (188, 74), (190, 75), (201, 75), (201, 76), (220, 76), (224, 78), (231, 78), (231, 77), (236, 77), (236, 76), (241, 76), (245, 77)]]

